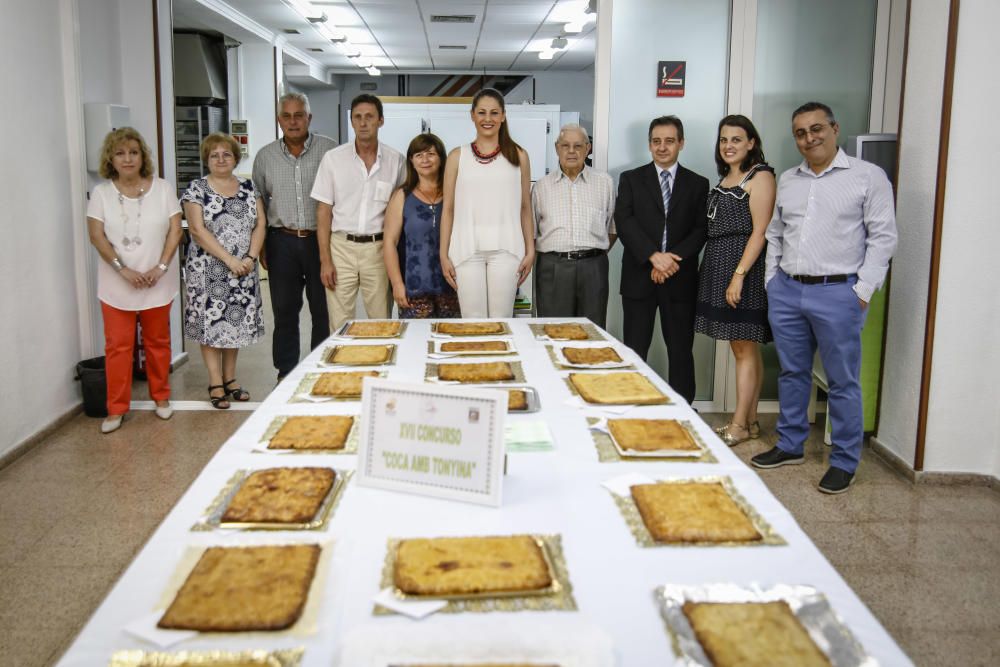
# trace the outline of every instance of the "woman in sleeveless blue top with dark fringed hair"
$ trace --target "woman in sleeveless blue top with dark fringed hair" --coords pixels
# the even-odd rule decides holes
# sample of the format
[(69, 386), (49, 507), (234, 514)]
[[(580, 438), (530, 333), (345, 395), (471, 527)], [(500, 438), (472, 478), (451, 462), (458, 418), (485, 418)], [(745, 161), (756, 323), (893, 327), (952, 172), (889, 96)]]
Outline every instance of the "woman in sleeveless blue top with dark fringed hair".
[(418, 134), (406, 150), (406, 182), (385, 211), (382, 256), (404, 319), (458, 317), (458, 295), (441, 273), (444, 144)]

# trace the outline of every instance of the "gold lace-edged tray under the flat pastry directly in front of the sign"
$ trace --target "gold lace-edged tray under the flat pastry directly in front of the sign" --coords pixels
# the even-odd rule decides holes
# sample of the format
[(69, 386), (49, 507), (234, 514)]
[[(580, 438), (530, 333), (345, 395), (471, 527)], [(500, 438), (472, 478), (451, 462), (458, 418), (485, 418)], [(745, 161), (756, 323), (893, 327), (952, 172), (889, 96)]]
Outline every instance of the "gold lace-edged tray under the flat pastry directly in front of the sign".
[[(546, 588), (534, 591), (515, 591), (510, 593), (490, 592), (467, 595), (409, 595), (396, 588), (393, 572), (396, 565), (396, 551), (401, 539), (388, 541), (385, 564), (382, 567), (381, 588), (392, 588), (395, 596), (401, 600), (447, 600), (448, 604), (439, 613), (458, 612), (490, 612), (490, 611), (575, 611), (576, 600), (573, 599), (573, 587), (569, 581), (566, 568), (566, 558), (562, 550), (560, 535), (532, 535), (549, 569), (552, 584)], [(395, 614), (381, 605), (375, 605), (376, 615)]]

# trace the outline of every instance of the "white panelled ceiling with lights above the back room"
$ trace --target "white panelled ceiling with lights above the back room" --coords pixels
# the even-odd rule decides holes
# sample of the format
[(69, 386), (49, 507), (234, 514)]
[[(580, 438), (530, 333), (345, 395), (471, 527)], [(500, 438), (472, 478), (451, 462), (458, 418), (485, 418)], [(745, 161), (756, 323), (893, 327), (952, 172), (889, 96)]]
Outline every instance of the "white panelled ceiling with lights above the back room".
[[(538, 51), (563, 35), (587, 0), (312, 0), (383, 74), (582, 70), (594, 64), (595, 21), (566, 35), (552, 60)], [(286, 63), (361, 74), (350, 59), (281, 0), (173, 0), (174, 28), (221, 32), (240, 42), (286, 37)], [(472, 23), (431, 22), (473, 15)], [(285, 29), (301, 34), (286, 35)], [(463, 46), (464, 49), (441, 49)], [(288, 48), (290, 47), (290, 48)], [(312, 49), (322, 49), (314, 51)]]

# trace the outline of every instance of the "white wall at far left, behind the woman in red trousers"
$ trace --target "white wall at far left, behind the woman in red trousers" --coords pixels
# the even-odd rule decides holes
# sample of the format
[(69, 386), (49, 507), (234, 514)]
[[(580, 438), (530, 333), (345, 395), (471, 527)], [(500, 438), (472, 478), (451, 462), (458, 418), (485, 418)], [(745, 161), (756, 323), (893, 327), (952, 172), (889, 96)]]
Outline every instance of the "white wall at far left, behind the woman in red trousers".
[(80, 348), (72, 227), (84, 221), (75, 219), (67, 194), (62, 50), (72, 44), (61, 39), (61, 4), (4, 3), (0, 21), (0, 60), (8, 63), (0, 88), (27, 94), (21, 103), (8, 96), (11, 103), (0, 105), (0, 123), (9, 130), (0, 179), (11, 193), (0, 262), (0, 455), (80, 400), (73, 381)]

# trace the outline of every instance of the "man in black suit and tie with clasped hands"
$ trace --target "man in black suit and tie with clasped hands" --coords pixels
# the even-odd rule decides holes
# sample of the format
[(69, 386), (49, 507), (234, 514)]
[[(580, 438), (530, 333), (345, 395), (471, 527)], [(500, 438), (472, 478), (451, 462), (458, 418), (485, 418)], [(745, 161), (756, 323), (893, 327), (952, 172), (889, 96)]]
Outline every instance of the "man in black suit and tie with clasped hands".
[(684, 125), (676, 116), (649, 124), (653, 161), (622, 173), (615, 224), (622, 253), (622, 320), (625, 344), (643, 359), (660, 328), (667, 344), (670, 386), (694, 400), (694, 312), (698, 253), (705, 245), (708, 179), (677, 164)]

